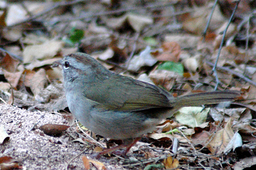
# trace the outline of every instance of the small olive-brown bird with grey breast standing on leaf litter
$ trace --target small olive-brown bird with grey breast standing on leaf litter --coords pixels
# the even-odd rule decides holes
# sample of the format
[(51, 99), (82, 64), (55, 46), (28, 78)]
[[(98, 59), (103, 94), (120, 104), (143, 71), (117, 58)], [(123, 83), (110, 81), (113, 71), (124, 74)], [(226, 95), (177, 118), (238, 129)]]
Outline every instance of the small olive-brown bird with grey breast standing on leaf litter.
[(240, 95), (214, 91), (174, 98), (155, 85), (109, 71), (85, 53), (69, 54), (53, 64), (62, 66), (68, 107), (76, 119), (96, 134), (124, 140), (102, 154), (124, 147), (129, 151), (181, 107), (232, 101)]

